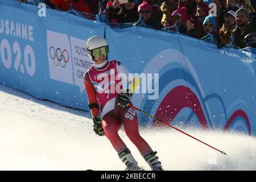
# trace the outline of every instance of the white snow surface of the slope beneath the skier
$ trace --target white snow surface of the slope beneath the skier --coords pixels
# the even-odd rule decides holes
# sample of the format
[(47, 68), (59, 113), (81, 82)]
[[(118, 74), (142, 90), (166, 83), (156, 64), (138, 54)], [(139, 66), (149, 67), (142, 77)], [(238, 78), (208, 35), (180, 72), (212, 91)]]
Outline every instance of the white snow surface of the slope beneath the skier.
[[(166, 170), (256, 170), (256, 138), (185, 130), (225, 151), (215, 152), (172, 129), (141, 129)], [(139, 165), (137, 148), (119, 131)], [(0, 170), (123, 170), (106, 137), (92, 130), (90, 113), (69, 109), (0, 85)]]

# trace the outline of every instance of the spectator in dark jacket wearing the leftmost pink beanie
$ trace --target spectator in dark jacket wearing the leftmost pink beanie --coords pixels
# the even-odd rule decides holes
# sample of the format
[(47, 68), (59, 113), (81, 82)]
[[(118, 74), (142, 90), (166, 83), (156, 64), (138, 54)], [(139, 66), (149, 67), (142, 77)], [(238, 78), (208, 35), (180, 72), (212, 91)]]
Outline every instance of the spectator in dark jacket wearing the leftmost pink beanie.
[(139, 16), (144, 20), (146, 26), (154, 28), (156, 30), (160, 30), (163, 28), (163, 24), (154, 18), (152, 15), (152, 8), (147, 3), (147, 1), (143, 1), (141, 5), (138, 6)]

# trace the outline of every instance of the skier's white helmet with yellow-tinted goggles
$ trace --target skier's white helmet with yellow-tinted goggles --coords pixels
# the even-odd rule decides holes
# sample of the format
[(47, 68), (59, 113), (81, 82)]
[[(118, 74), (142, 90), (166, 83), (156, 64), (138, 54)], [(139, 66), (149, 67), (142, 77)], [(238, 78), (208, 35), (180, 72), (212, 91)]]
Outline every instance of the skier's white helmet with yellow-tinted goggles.
[(101, 55), (107, 57), (109, 53), (109, 45), (102, 36), (92, 36), (86, 42), (86, 52), (92, 60)]

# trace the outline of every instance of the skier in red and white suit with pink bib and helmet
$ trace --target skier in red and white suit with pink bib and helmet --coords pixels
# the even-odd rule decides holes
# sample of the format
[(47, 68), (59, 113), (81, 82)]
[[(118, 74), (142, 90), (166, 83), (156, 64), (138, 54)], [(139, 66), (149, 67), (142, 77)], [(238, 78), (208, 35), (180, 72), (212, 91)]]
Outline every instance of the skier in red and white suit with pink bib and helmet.
[[(129, 71), (117, 60), (106, 60), (109, 46), (101, 36), (89, 38), (86, 51), (90, 59), (94, 61), (92, 67), (84, 74), (85, 89), (93, 117), (93, 130), (100, 136), (106, 134), (119, 158), (125, 163), (125, 170), (142, 170), (118, 135), (118, 130), (123, 124), (127, 137), (138, 148), (150, 168), (154, 171), (162, 171), (156, 152), (152, 151), (139, 134), (136, 111), (129, 107), (132, 93), (122, 92), (125, 79), (122, 80), (119, 75), (122, 73), (128, 78)], [(133, 83), (128, 83), (128, 85), (131, 84)], [(118, 85), (121, 92), (116, 89)]]

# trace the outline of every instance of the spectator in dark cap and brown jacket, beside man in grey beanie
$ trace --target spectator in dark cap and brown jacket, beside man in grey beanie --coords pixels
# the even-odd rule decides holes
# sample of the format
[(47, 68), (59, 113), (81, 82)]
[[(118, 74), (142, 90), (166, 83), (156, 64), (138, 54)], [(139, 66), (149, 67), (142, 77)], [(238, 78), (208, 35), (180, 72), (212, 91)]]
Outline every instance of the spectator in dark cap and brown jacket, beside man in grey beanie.
[(220, 30), (221, 43), (224, 45), (230, 43), (230, 38), (232, 31), (236, 28), (236, 13), (234, 11), (229, 11), (224, 14), (225, 23)]

